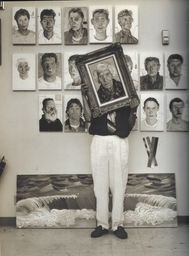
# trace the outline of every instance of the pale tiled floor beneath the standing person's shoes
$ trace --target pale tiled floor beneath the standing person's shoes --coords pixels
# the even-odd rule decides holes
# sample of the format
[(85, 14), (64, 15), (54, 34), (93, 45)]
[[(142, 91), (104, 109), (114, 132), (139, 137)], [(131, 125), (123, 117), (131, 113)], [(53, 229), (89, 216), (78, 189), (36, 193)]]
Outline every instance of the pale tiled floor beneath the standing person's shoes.
[(93, 229), (16, 229), (0, 227), (0, 256), (189, 256), (189, 225), (128, 228), (128, 239), (109, 230), (91, 238)]

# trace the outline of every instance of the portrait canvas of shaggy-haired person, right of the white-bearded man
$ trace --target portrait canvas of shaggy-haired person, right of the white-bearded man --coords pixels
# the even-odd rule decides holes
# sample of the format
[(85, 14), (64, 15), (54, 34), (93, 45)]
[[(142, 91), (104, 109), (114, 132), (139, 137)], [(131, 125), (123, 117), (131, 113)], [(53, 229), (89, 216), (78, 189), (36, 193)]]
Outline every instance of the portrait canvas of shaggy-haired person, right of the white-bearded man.
[(81, 95), (64, 96), (64, 131), (87, 131), (87, 122), (83, 116)]

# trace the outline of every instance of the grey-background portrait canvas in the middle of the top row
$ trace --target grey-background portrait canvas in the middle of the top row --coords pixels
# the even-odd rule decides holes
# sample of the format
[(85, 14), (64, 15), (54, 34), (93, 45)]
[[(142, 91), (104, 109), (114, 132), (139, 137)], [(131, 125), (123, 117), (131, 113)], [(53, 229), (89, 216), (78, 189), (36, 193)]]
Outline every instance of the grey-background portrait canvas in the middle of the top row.
[(87, 7), (64, 7), (64, 44), (87, 44)]

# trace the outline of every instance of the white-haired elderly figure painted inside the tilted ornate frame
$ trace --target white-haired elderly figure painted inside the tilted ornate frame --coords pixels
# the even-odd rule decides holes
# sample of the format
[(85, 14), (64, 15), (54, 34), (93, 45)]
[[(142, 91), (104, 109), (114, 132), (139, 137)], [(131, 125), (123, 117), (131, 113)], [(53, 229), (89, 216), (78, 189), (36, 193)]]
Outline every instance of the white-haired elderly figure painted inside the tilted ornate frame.
[(101, 103), (125, 96), (122, 83), (113, 78), (116, 73), (115, 67), (107, 61), (97, 64), (93, 70), (95, 81), (100, 85), (97, 94)]

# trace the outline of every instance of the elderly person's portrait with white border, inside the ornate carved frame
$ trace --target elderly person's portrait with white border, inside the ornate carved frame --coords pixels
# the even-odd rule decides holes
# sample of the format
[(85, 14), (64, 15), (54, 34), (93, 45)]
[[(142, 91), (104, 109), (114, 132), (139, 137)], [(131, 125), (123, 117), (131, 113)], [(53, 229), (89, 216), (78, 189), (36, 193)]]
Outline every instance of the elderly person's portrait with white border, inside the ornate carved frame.
[(128, 97), (114, 55), (87, 63), (99, 106)]

